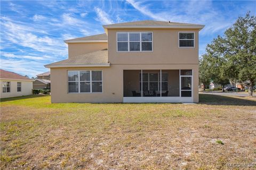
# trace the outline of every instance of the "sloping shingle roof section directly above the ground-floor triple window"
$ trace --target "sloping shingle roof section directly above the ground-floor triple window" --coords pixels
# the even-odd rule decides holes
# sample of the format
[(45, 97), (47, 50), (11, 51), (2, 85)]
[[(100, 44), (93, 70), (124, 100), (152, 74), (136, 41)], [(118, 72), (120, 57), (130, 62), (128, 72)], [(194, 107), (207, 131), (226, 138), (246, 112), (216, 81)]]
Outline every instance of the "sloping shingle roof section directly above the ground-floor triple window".
[(108, 50), (103, 49), (92, 53), (71, 57), (66, 60), (45, 65), (46, 68), (51, 67), (77, 67), (77, 66), (93, 66), (106, 65), (108, 63)]

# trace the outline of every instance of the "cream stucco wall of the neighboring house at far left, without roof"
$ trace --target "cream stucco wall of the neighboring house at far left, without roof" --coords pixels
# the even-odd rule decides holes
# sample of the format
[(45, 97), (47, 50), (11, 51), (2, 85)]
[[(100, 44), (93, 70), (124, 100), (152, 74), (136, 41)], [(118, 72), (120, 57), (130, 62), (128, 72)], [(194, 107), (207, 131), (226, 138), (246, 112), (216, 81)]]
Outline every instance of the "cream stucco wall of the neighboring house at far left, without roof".
[[(3, 93), (3, 81), (11, 82), (11, 92)], [(32, 94), (33, 82), (32, 81), (21, 81), (21, 80), (4, 80), (1, 79), (1, 98), (26, 96)], [(21, 82), (21, 91), (17, 91), (17, 82)]]

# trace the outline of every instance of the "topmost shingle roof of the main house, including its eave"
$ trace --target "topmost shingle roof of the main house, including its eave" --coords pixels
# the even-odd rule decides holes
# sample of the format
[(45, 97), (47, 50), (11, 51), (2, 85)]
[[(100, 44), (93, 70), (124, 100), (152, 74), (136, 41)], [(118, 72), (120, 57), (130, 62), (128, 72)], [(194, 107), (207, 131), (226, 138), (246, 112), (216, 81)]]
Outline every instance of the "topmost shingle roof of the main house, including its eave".
[(201, 24), (192, 24), (192, 23), (181, 23), (181, 22), (170, 22), (170, 21), (154, 21), (154, 20), (145, 20), (145, 21), (133, 21), (133, 22), (124, 22), (124, 23), (114, 23), (103, 25), (104, 28), (198, 28), (202, 29), (204, 25)]

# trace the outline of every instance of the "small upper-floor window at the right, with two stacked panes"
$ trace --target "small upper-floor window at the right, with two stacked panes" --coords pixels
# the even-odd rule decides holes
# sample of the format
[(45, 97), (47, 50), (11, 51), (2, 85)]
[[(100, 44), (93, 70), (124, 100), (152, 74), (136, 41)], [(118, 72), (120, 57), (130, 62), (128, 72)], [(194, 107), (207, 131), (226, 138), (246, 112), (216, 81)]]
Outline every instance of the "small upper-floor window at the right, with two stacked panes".
[(195, 47), (194, 32), (179, 32), (179, 47)]

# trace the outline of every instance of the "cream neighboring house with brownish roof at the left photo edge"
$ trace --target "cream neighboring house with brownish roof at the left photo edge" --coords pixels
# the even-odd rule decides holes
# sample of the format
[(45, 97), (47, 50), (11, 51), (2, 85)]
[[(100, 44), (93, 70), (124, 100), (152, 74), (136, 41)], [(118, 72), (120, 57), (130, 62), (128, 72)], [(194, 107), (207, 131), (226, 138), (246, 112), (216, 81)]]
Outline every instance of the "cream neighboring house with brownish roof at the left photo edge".
[(1, 98), (32, 94), (33, 80), (14, 72), (0, 71)]

